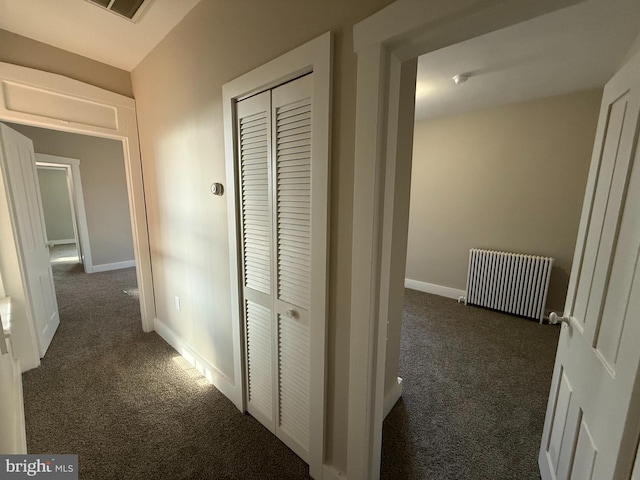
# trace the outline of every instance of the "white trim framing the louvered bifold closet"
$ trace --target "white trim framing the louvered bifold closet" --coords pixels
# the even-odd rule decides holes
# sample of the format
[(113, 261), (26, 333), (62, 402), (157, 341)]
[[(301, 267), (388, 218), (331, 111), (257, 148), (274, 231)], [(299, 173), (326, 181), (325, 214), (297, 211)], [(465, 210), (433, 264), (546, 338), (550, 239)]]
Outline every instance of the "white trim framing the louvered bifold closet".
[[(229, 258), (231, 280), (231, 317), (233, 322), (233, 363), (235, 395), (231, 400), (236, 407), (246, 411), (246, 388), (244, 371), (244, 347), (242, 318), (242, 288), (239, 272), (241, 239), (237, 218), (239, 211), (237, 182), (237, 152), (235, 145), (235, 104), (265, 90), (286, 83), (306, 73), (314, 73), (313, 81), (313, 137), (312, 155), (314, 162), (325, 162), (326, 168), (319, 168), (317, 180), (327, 185), (324, 205), (312, 212), (314, 224), (325, 226), (324, 233), (314, 236), (317, 251), (324, 252), (329, 247), (329, 165), (331, 139), (331, 86), (332, 86), (332, 38), (331, 33), (324, 35), (252, 70), (225, 84), (222, 88), (224, 115), (224, 143), (227, 170), (227, 211), (229, 222)], [(316, 175), (316, 172), (314, 172)], [(315, 243), (317, 242), (317, 243)], [(316, 248), (314, 247), (314, 248)], [(328, 257), (327, 257), (328, 258)], [(323, 261), (324, 262), (324, 261)], [(324, 462), (325, 404), (326, 404), (326, 337), (327, 337), (327, 265), (317, 265), (312, 259), (314, 279), (317, 287), (312, 289), (312, 309), (317, 312), (316, 322), (312, 326), (311, 336), (311, 398), (310, 398), (310, 435), (309, 435), (309, 473), (313, 478), (322, 478)], [(322, 392), (316, 393), (316, 392)]]

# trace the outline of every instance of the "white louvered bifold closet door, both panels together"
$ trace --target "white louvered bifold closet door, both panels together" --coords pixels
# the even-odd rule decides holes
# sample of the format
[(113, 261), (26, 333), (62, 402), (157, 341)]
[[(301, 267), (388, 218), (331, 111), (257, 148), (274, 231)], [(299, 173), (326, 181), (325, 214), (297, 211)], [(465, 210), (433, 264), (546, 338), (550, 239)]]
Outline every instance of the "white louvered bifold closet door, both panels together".
[(247, 409), (308, 461), (312, 74), (237, 104)]

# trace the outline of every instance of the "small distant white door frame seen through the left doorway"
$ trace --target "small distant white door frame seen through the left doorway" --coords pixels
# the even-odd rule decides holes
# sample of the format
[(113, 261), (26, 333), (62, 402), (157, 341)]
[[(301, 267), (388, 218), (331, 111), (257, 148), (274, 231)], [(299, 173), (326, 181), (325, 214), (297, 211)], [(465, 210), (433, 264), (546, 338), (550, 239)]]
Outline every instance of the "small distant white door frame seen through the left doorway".
[[(80, 176), (80, 160), (77, 158), (60, 157), (46, 153), (36, 153), (37, 166), (53, 166), (67, 170), (67, 185), (70, 189), (71, 210), (76, 232), (76, 248), (80, 262), (86, 273), (93, 273), (93, 259), (91, 244), (89, 243), (89, 227), (87, 213), (84, 208), (84, 194), (82, 193), (82, 177)], [(70, 177), (70, 182), (69, 182)]]

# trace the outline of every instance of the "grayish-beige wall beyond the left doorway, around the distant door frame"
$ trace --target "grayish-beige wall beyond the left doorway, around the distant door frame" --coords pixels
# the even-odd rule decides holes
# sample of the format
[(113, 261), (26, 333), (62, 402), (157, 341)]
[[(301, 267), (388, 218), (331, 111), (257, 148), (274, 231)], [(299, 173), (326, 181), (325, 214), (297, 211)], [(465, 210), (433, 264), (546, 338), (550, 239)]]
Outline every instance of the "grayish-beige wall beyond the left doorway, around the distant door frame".
[(122, 143), (25, 125), (9, 125), (33, 140), (36, 153), (80, 160), (93, 265), (133, 260)]

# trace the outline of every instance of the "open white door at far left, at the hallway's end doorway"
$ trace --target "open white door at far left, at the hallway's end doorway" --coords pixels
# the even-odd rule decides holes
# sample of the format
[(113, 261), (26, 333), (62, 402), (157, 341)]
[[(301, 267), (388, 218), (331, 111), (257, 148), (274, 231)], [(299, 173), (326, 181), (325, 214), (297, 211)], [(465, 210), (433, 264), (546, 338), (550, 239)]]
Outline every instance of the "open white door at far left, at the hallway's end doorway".
[(16, 243), (40, 357), (49, 348), (60, 318), (53, 286), (33, 143), (0, 124), (0, 164), (12, 209)]

